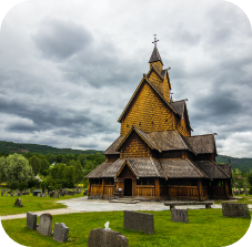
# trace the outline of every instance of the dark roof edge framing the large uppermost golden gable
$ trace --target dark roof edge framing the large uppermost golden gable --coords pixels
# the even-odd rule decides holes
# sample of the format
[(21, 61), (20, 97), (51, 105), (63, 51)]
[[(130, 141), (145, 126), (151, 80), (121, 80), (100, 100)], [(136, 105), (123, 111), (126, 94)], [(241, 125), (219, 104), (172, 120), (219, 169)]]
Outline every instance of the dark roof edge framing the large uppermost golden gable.
[[(161, 75), (160, 75), (161, 76)], [(142, 85), (144, 83), (148, 83), (151, 89), (157, 93), (157, 95), (163, 101), (163, 103), (169, 107), (171, 109), (174, 114), (179, 114), (174, 109), (173, 106), (167, 101), (167, 99), (159, 92), (159, 90), (147, 79), (147, 78), (143, 78), (141, 80), (141, 82), (139, 83), (137, 90), (134, 91), (133, 95), (131, 96), (130, 101), (128, 102), (127, 106), (124, 107), (122, 114), (120, 115), (118, 122), (121, 122), (122, 117), (125, 115), (127, 111), (130, 109), (130, 106), (132, 105), (134, 99), (137, 97), (138, 93), (140, 92), (140, 89), (142, 88)]]

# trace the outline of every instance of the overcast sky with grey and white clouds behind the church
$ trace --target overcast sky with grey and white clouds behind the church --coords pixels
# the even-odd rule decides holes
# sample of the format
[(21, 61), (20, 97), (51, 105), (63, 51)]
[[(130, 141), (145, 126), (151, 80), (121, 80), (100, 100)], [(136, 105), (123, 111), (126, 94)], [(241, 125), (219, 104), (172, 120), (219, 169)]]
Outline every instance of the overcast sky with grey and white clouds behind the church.
[(29, 0), (0, 25), (0, 140), (104, 151), (153, 34), (192, 135), (252, 157), (252, 29), (224, 0)]

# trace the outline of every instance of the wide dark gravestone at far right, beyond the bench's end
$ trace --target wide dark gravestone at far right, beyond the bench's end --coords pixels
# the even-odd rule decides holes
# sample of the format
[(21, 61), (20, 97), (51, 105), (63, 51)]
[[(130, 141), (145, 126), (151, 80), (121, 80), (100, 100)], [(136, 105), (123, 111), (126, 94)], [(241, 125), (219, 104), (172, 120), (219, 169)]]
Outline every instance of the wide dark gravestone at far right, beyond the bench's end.
[(222, 214), (226, 217), (250, 217), (248, 204), (222, 203)]

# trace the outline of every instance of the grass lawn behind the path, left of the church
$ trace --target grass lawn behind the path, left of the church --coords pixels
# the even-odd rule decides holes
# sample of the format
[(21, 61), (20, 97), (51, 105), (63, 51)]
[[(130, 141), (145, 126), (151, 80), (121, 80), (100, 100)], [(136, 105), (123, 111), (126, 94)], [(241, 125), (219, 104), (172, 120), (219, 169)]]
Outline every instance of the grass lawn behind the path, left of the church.
[[(65, 195), (64, 197), (37, 197), (30, 195), (23, 196), (0, 196), (0, 216), (2, 215), (16, 215), (27, 212), (39, 212), (56, 208), (67, 208), (65, 205), (57, 203), (62, 199), (78, 198), (82, 197), (83, 193), (75, 194), (74, 196)], [(17, 198), (21, 198), (23, 207), (14, 207), (14, 202)]]

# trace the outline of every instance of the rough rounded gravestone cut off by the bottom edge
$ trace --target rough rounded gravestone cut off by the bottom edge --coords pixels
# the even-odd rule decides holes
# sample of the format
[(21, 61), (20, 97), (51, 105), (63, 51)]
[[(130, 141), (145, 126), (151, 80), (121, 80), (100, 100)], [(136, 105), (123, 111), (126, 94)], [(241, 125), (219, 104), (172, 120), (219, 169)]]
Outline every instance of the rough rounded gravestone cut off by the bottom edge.
[(103, 228), (92, 229), (88, 238), (88, 247), (128, 247), (128, 238), (119, 231)]

